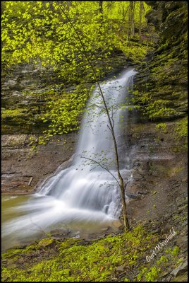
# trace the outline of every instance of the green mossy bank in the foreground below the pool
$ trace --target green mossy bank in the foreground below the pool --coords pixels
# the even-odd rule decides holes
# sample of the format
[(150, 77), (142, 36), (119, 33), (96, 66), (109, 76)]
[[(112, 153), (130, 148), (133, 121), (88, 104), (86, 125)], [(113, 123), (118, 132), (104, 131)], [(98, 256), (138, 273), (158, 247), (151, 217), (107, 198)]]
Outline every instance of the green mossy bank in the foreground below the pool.
[[(51, 243), (54, 243), (54, 249)], [(169, 254), (172, 259), (169, 262), (166, 256), (158, 259), (157, 255), (159, 265), (156, 263), (155, 266), (153, 262), (145, 262), (145, 265), (141, 265), (142, 258), (150, 255), (157, 243), (159, 243), (158, 237), (147, 233), (142, 226), (117, 236), (92, 240), (90, 243), (77, 238), (68, 238), (63, 242), (46, 238), (23, 250), (11, 249), (4, 253), (2, 281), (118, 281), (119, 275), (116, 270), (120, 265), (124, 267), (127, 275), (123, 277), (123, 281), (153, 281), (158, 279), (159, 271), (164, 264), (176, 260), (178, 255), (178, 248), (170, 249)], [(51, 254), (52, 250), (54, 254)], [(10, 258), (11, 262), (8, 265), (6, 260)], [(24, 265), (19, 265), (19, 260), (22, 258)], [(135, 276), (130, 277), (133, 272)]]

